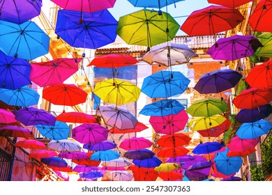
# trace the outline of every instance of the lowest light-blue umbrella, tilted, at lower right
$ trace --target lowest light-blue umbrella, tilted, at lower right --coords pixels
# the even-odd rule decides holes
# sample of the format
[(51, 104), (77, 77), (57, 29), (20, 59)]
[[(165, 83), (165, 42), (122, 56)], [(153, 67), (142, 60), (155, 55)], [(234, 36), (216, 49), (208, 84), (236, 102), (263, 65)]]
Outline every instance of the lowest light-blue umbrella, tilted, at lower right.
[(225, 151), (216, 153), (214, 157), (214, 162), (216, 163), (216, 170), (227, 176), (232, 173), (237, 173), (243, 164), (241, 157), (228, 157), (227, 153), (229, 148), (225, 147)]

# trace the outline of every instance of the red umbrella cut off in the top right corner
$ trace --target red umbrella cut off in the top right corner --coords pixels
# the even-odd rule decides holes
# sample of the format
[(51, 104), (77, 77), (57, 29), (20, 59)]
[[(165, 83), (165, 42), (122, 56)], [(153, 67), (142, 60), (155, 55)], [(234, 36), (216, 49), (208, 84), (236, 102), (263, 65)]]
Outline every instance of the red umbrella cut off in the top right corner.
[(252, 27), (253, 31), (259, 32), (272, 32), (272, 27), (269, 24), (272, 17), (272, 1), (262, 0), (259, 1), (255, 9), (253, 10), (248, 23)]

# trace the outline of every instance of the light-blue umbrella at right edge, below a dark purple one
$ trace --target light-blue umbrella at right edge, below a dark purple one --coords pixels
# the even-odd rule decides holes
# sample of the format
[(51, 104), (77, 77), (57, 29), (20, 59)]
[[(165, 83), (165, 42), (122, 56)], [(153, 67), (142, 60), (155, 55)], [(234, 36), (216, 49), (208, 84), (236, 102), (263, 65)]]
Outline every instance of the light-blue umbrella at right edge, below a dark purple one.
[(267, 120), (257, 120), (254, 123), (243, 123), (236, 131), (240, 139), (255, 139), (267, 134), (272, 129), (271, 123)]

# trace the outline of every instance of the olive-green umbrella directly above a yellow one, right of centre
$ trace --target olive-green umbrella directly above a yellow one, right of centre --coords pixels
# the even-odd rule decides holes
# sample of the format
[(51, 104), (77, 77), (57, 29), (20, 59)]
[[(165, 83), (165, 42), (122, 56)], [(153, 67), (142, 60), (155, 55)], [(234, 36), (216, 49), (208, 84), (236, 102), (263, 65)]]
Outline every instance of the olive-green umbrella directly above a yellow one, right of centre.
[(221, 98), (204, 98), (196, 100), (186, 110), (191, 116), (214, 116), (222, 114), (229, 109), (229, 106)]

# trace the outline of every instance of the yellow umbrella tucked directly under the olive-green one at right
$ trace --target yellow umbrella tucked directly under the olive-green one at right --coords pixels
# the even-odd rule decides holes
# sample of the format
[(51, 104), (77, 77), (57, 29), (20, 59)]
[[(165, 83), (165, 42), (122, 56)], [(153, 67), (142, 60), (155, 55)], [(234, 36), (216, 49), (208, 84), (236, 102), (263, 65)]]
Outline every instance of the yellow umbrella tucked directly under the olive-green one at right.
[(199, 130), (207, 130), (211, 127), (216, 127), (223, 123), (227, 118), (222, 115), (215, 115), (215, 116), (209, 116), (209, 117), (195, 117), (188, 123), (187, 127), (190, 128), (190, 130), (199, 131)]

